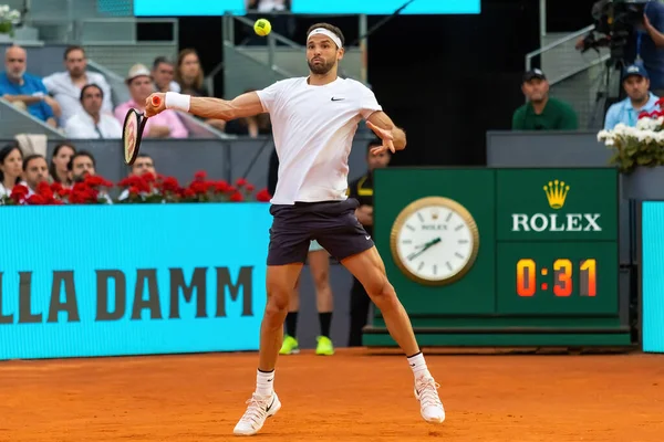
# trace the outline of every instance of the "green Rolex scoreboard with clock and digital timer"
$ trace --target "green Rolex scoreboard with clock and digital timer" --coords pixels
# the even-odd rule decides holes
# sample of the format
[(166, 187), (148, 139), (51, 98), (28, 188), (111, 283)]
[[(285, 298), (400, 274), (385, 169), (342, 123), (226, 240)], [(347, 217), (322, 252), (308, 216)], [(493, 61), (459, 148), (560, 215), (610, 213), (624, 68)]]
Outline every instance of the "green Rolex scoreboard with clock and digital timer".
[[(423, 345), (630, 345), (618, 171), (375, 171), (374, 232)], [(376, 313), (367, 346), (391, 345)]]

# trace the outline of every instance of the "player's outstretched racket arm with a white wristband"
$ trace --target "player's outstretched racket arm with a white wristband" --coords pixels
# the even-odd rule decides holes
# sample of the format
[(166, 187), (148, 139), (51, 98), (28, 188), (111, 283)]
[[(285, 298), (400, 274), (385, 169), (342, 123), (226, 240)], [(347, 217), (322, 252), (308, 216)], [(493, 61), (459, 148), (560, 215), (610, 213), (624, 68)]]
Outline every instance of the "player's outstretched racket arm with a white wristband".
[[(154, 106), (153, 96), (160, 98)], [(155, 93), (146, 99), (145, 115), (151, 117), (167, 109), (188, 112), (203, 118), (224, 119), (226, 122), (263, 113), (262, 103), (256, 92), (248, 92), (231, 101), (211, 97), (194, 97), (174, 92)]]

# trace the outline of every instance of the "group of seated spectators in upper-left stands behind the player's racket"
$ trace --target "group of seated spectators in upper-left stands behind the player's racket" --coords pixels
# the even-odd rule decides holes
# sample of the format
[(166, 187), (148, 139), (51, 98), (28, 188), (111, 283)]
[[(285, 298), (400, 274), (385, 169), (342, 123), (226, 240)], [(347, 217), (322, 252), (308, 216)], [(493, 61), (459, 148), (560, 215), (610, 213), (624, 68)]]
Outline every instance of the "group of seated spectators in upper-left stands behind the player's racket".
[[(60, 130), (70, 139), (114, 139), (122, 137), (122, 124), (128, 108), (144, 110), (153, 92), (180, 92), (209, 96), (198, 54), (184, 49), (177, 61), (159, 56), (152, 69), (132, 66), (125, 77), (129, 99), (113, 103), (113, 91), (104, 75), (87, 69), (85, 50), (72, 45), (64, 51), (63, 72), (43, 78), (29, 73), (28, 53), (19, 45), (9, 46), (4, 71), (0, 73), (0, 97), (28, 112), (34, 118)], [(231, 135), (257, 137), (270, 134), (269, 117), (225, 122), (207, 118), (204, 123)], [(147, 122), (144, 137), (187, 138), (183, 115), (168, 109)]]

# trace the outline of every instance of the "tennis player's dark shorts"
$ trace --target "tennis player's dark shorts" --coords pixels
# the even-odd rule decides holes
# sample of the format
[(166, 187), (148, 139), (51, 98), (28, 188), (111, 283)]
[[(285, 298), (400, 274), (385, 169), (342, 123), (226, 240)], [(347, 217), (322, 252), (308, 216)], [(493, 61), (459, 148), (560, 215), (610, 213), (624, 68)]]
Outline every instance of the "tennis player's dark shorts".
[(304, 263), (312, 240), (339, 261), (373, 248), (371, 235), (355, 218), (357, 206), (354, 198), (272, 204), (268, 265)]

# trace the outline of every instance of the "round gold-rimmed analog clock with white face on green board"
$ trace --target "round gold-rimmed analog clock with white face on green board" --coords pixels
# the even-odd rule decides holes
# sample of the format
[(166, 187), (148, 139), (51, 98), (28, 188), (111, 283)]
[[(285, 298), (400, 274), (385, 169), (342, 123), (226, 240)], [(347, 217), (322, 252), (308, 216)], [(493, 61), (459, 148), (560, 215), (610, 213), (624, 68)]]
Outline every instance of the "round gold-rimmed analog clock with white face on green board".
[(427, 197), (396, 217), (390, 238), (396, 265), (426, 285), (460, 280), (475, 263), (479, 233), (473, 215), (456, 201)]

